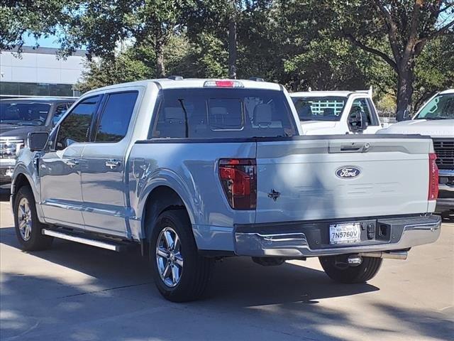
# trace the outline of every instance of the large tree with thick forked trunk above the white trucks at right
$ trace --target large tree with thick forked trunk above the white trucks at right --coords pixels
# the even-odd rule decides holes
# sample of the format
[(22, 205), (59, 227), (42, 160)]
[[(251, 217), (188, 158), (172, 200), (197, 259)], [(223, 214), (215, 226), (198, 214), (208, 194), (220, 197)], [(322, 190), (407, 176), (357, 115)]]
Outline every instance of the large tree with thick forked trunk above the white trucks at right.
[(336, 33), (392, 67), (397, 74), (397, 110), (410, 109), (417, 58), (431, 41), (454, 34), (454, 1), (321, 2), (331, 12)]

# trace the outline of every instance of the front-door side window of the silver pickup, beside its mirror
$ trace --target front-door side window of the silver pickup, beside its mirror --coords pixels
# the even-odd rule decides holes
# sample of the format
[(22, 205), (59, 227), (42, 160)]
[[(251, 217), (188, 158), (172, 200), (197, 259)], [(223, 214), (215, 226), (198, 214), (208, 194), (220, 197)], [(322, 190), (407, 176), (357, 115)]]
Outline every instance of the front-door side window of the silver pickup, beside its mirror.
[(89, 141), (92, 118), (98, 106), (99, 96), (89, 97), (77, 104), (58, 128), (55, 149), (60, 151), (74, 142)]

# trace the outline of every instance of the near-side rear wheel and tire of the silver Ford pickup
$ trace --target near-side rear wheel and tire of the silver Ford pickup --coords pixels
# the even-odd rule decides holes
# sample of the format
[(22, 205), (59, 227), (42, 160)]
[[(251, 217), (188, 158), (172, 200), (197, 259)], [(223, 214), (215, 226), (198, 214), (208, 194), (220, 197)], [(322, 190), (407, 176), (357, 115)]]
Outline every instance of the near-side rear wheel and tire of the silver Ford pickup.
[(168, 210), (157, 217), (150, 239), (150, 264), (157, 290), (167, 300), (188, 302), (203, 296), (214, 261), (199, 255), (185, 210)]

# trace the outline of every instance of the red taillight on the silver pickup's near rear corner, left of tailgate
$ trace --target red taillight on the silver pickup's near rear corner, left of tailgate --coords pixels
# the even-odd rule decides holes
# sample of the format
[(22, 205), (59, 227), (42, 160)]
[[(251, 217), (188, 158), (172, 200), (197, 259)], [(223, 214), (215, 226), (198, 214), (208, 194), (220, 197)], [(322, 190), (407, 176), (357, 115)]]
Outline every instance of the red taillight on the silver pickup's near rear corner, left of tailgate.
[(219, 178), (233, 210), (255, 210), (256, 168), (254, 158), (228, 158), (219, 161)]

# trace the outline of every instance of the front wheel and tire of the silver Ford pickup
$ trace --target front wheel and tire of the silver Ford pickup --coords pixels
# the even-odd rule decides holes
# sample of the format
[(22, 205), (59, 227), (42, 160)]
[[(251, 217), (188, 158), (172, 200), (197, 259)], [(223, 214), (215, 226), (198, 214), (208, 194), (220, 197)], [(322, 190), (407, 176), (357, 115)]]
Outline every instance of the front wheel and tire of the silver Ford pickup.
[(24, 251), (49, 249), (53, 237), (45, 236), (41, 230), (46, 227), (38, 220), (35, 197), (28, 186), (19, 188), (14, 200), (14, 229)]

